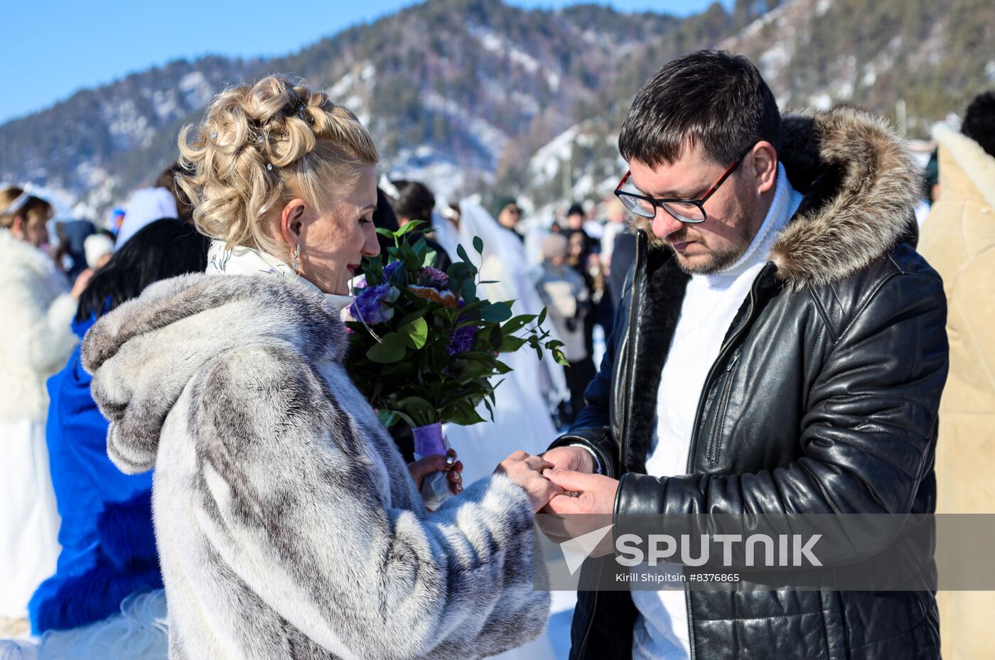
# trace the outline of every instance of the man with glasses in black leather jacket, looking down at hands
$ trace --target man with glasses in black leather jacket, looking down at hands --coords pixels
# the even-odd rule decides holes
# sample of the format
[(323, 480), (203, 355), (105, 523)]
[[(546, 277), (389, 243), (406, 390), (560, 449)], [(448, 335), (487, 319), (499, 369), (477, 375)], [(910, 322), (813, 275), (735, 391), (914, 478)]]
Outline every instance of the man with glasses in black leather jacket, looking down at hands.
[[(700, 52), (646, 83), (619, 141), (635, 184), (620, 190), (636, 196), (623, 201), (653, 217), (638, 232), (588, 407), (544, 454), (556, 465), (547, 476), (580, 495), (549, 510), (932, 513), (946, 303), (939, 276), (902, 240), (919, 184), (887, 124), (853, 108), (781, 117), (748, 60)], [(778, 165), (794, 206), (777, 198)], [(775, 203), (792, 211), (771, 230)], [(696, 278), (740, 267), (761, 231), (775, 234), (728, 309), (686, 300)], [(694, 295), (715, 295), (709, 285)], [(731, 322), (687, 327), (712, 313)], [(668, 363), (701, 367), (689, 370), (686, 387), (700, 394), (683, 411), (686, 428), (658, 414), (676, 410), (662, 397), (682, 396), (667, 390)], [(679, 467), (655, 472), (665, 450)], [(930, 591), (685, 599), (686, 629), (669, 634), (686, 647), (664, 657), (939, 658)], [(571, 659), (632, 658), (634, 629), (635, 657), (649, 657), (645, 616), (627, 591), (580, 592)]]

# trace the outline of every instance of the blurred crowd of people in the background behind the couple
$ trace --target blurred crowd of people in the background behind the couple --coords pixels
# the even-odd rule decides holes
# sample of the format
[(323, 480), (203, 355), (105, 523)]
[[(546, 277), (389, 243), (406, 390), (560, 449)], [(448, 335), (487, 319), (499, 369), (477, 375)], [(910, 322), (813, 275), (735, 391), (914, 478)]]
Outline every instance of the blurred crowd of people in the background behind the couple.
[[(923, 199), (933, 210), (919, 249), (943, 276), (950, 305), (951, 384), (937, 481), (950, 510), (984, 510), (995, 502), (985, 479), (995, 459), (995, 94), (968, 108), (962, 132), (941, 126), (935, 139), (938, 183), (927, 185), (923, 174)], [(101, 315), (149, 284), (204, 272), (208, 241), (191, 223), (179, 174), (174, 164), (134, 191), (106, 227), (57, 222), (52, 204), (30, 187), (0, 190), (0, 637), (87, 626), (119, 615), (132, 593), (162, 586), (151, 472), (125, 475), (108, 459), (107, 422), (91, 397), (80, 341)], [(614, 197), (564, 200), (559, 217), (543, 226), (525, 218), (514, 198), (490, 210), (479, 198), (443, 203), (428, 182), (382, 177), (377, 196), (378, 227), (425, 222), (444, 270), (459, 244), (480, 236), (482, 278), (494, 282), (488, 296), (514, 300), (515, 313), (546, 309), (569, 367), (511, 364), (496, 422), (448, 430), (467, 482), (490, 474), (511, 449), (540, 453), (584, 409), (613, 331), (636, 252), (626, 209)], [(401, 430), (395, 439), (410, 455), (410, 437)], [(985, 451), (972, 448), (986, 443)], [(970, 501), (954, 504), (951, 485), (964, 479), (972, 487), (958, 492), (970, 492)], [(986, 594), (950, 598), (988, 608), (964, 605), (958, 611), (970, 622), (944, 625), (988, 627)]]

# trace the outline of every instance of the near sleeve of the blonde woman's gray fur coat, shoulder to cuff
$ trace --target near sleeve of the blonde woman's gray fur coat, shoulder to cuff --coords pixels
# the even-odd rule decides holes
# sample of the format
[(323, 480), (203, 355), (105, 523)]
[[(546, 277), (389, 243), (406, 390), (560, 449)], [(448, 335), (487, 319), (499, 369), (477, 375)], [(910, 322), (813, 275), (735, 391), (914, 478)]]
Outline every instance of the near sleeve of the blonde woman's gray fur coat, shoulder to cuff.
[(370, 451), (389, 438), (336, 378), (271, 344), (191, 383), (195, 517), (233, 578), (336, 656), (469, 659), (533, 638), (549, 599), (524, 491), (498, 475), (435, 513), (399, 504), (410, 476)]

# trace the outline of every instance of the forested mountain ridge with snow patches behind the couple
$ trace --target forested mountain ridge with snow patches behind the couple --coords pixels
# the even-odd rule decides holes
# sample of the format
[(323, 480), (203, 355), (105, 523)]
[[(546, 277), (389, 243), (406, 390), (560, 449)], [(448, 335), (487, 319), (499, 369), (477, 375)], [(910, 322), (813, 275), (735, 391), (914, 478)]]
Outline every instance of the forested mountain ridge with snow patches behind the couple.
[(993, 11), (988, 0), (737, 0), (678, 19), (427, 0), (290, 57), (180, 61), (78, 92), (0, 126), (0, 181), (44, 185), (102, 218), (175, 158), (180, 126), (214, 93), (283, 72), (355, 111), (388, 174), (442, 197), (520, 194), (549, 213), (610, 194), (625, 110), (675, 57), (744, 53), (785, 106), (853, 102), (895, 118), (900, 98), (909, 133), (924, 136), (995, 83)]

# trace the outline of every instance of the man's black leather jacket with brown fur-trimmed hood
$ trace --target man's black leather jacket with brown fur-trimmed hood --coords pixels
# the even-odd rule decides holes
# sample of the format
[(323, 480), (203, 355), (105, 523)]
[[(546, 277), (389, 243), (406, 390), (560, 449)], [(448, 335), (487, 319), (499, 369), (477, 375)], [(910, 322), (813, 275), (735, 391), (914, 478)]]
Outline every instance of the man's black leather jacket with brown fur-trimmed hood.
[[(843, 134), (834, 133), (840, 125)], [(553, 443), (589, 446), (620, 478), (616, 515), (935, 509), (943, 288), (913, 248), (893, 247), (916, 191), (898, 202), (877, 197), (900, 190), (912, 166), (884, 127), (854, 110), (785, 126), (782, 162), (805, 200), (708, 372), (686, 475), (645, 474), (688, 276), (639, 233), (588, 408)], [(879, 131), (880, 144), (861, 144), (856, 129)], [(827, 168), (811, 155), (838, 144), (855, 158)], [(848, 210), (841, 196), (866, 206)], [(585, 570), (601, 570), (599, 562)], [(688, 591), (687, 603), (697, 660), (939, 657), (926, 591)], [(630, 658), (636, 615), (628, 592), (581, 592), (571, 658)]]

